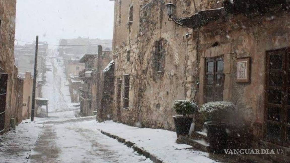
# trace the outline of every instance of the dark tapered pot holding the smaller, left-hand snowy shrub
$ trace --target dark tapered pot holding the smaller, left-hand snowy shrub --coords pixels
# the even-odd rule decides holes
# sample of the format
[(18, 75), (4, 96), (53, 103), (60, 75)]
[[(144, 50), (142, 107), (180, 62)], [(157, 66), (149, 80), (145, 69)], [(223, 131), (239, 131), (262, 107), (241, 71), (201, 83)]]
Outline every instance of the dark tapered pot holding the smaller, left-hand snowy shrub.
[(184, 116), (173, 116), (176, 134), (188, 135), (193, 118)]

